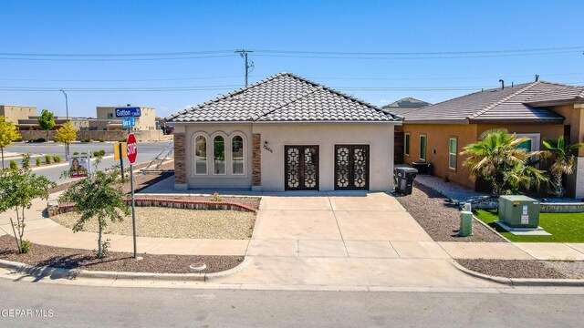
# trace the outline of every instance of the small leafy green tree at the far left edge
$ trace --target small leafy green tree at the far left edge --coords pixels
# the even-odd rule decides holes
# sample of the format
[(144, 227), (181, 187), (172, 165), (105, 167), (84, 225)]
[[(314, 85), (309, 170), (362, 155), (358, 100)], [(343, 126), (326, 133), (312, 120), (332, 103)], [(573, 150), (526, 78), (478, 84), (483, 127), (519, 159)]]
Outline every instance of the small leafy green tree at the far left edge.
[(36, 176), (30, 170), (4, 170), (0, 172), (0, 212), (16, 211), (16, 222), (10, 218), (20, 253), (28, 251), (30, 242), (23, 240), (26, 228), (25, 210), (30, 209), (32, 200), (48, 199), (48, 189), (55, 182), (43, 176)]

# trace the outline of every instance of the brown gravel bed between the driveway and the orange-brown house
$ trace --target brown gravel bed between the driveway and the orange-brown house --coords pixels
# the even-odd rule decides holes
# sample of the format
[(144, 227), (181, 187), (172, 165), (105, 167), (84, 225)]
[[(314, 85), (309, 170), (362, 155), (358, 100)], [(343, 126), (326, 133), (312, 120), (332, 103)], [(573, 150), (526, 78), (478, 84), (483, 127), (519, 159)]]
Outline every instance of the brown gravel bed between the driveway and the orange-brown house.
[(494, 231), (474, 220), (473, 235), (458, 237), (460, 210), (440, 193), (420, 184), (412, 190), (412, 195), (393, 195), (414, 220), (416, 220), (434, 241), (460, 242), (505, 242)]

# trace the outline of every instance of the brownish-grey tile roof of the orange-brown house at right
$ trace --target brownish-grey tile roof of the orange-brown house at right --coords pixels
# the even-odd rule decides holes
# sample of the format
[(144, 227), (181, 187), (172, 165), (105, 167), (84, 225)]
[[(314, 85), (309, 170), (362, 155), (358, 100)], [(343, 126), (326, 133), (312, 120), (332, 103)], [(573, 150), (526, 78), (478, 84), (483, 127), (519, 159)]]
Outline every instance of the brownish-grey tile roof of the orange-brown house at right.
[(534, 108), (525, 102), (537, 94), (564, 87), (567, 85), (537, 81), (487, 89), (412, 109), (401, 116), (405, 123), (561, 122), (564, 118), (555, 112)]

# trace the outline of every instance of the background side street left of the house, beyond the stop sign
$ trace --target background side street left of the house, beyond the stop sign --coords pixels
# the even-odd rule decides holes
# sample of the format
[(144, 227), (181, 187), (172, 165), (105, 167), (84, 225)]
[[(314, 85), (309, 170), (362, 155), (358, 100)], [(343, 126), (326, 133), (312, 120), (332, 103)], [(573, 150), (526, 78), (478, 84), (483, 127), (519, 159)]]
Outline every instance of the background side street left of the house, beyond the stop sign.
[[(113, 159), (111, 155), (113, 154), (113, 143), (110, 142), (92, 142), (92, 143), (74, 143), (71, 144), (71, 154), (75, 151), (87, 152), (96, 151), (99, 149), (106, 150), (106, 158), (101, 161), (98, 169), (109, 169), (112, 166), (119, 164), (119, 160)], [(160, 141), (160, 142), (139, 142), (138, 143), (138, 157), (136, 159), (136, 164), (150, 162), (155, 159), (163, 149), (166, 149), (172, 145), (172, 141)], [(31, 154), (50, 154), (58, 155), (63, 161), (65, 161), (65, 147), (59, 143), (24, 143), (19, 142), (11, 145), (5, 149), (6, 152), (13, 153), (31, 153)], [(5, 159), (5, 165), (8, 165), (10, 159)], [(17, 160), (20, 162), (20, 159)], [(44, 159), (43, 159), (44, 161)], [(124, 167), (127, 168), (130, 165), (128, 159), (124, 159)], [(31, 159), (31, 168), (36, 174), (44, 175), (47, 179), (55, 181), (57, 183), (68, 182), (70, 178), (61, 179), (61, 173), (66, 170), (67, 165), (54, 165), (47, 167), (35, 167), (35, 159)]]

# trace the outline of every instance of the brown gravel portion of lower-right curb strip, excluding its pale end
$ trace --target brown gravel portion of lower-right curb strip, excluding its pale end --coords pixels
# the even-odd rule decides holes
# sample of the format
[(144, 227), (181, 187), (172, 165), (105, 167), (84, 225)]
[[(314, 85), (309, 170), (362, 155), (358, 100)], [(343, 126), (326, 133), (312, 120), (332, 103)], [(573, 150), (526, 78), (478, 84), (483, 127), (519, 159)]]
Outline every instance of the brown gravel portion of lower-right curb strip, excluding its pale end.
[(461, 260), (462, 266), (474, 272), (479, 272), (495, 277), (506, 278), (543, 278), (563, 279), (567, 276), (548, 265), (545, 261), (535, 260)]

